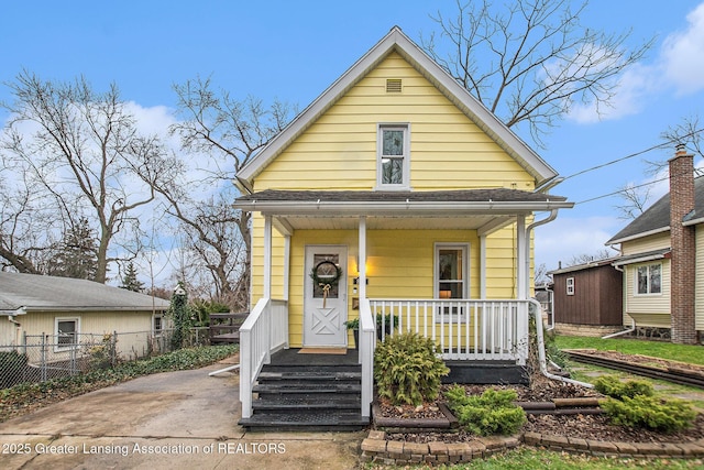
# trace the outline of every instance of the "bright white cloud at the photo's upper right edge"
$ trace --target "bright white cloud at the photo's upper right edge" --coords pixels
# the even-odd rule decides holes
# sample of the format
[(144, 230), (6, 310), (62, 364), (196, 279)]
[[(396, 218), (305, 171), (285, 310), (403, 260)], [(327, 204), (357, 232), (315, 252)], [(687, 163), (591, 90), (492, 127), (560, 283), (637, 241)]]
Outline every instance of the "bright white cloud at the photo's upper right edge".
[(670, 34), (661, 48), (664, 76), (682, 95), (704, 89), (704, 3), (686, 20), (686, 29)]

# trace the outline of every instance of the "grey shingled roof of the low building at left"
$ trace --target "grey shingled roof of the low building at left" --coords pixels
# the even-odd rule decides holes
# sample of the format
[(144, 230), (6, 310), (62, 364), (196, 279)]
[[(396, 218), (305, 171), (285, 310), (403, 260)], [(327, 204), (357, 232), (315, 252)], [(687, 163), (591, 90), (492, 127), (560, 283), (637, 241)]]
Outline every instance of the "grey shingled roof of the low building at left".
[(0, 315), (26, 311), (164, 311), (169, 302), (69, 277), (0, 272)]

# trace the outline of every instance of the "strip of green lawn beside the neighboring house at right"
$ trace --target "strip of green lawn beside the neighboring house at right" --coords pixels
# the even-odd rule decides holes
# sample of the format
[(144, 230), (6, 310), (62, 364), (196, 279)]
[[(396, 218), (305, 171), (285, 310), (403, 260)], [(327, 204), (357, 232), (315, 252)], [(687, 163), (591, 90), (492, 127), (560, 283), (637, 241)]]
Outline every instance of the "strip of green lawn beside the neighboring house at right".
[(704, 347), (691, 345), (673, 345), (664, 341), (646, 341), (639, 339), (602, 339), (576, 336), (554, 337), (559, 349), (597, 349), (600, 351), (618, 351), (625, 354), (642, 354), (672, 361), (704, 365)]

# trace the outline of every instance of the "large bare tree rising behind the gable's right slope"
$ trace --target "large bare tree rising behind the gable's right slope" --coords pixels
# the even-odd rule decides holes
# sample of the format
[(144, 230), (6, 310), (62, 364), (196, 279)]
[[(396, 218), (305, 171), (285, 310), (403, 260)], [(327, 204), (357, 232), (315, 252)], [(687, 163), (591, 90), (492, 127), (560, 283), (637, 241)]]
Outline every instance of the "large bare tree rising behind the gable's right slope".
[(433, 20), (440, 34), (422, 40), (428, 53), (507, 127), (529, 127), (534, 141), (575, 102), (609, 106), (617, 78), (652, 41), (626, 47), (629, 33), (606, 34), (580, 24), (584, 1), (490, 0), (462, 4)]

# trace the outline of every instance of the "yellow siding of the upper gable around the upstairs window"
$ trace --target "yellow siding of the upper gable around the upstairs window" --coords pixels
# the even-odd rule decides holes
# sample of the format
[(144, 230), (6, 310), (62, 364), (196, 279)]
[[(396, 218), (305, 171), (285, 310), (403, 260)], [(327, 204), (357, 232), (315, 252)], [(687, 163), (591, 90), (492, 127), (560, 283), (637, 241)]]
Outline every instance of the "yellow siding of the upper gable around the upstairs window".
[[(402, 78), (403, 92), (386, 94), (387, 78)], [(254, 189), (373, 189), (380, 123), (410, 124), (415, 190), (534, 189), (515, 160), (396, 53), (286, 147)]]

